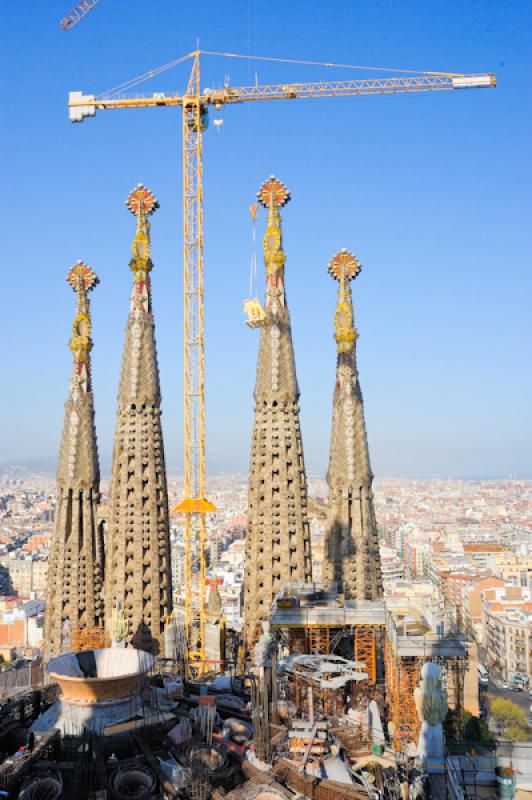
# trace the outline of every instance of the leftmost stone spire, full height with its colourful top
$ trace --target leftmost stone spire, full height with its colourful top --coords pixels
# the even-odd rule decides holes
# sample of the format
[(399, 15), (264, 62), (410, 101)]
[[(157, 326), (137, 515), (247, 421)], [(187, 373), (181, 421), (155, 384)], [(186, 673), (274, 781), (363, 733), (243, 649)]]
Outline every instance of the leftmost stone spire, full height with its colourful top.
[(68, 650), (75, 628), (103, 625), (103, 536), (97, 524), (100, 471), (91, 385), (91, 317), (88, 293), (96, 274), (78, 261), (67, 275), (76, 292), (68, 343), (73, 355), (70, 391), (57, 466), (57, 505), (48, 561), (45, 655)]

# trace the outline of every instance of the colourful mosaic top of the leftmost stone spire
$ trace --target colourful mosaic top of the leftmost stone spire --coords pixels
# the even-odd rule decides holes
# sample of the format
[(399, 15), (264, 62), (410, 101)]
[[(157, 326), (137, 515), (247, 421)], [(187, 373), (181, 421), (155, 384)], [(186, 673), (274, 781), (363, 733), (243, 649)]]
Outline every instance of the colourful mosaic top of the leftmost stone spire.
[(72, 323), (72, 338), (68, 346), (74, 356), (70, 389), (73, 397), (91, 391), (90, 351), (91, 315), (88, 293), (100, 282), (96, 273), (84, 264), (77, 261), (67, 275), (67, 281), (76, 292), (76, 316)]

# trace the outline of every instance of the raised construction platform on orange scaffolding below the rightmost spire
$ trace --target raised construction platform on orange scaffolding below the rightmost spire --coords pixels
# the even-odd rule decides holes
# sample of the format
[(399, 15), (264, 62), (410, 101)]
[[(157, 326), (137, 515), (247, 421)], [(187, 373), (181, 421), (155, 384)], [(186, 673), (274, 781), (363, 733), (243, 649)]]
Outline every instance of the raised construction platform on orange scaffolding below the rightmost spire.
[[(369, 697), (381, 697), (396, 749), (414, 744), (419, 716), (414, 690), (422, 665), (437, 662), (451, 708), (464, 707), (469, 646), (463, 634), (431, 629), (422, 609), (388, 609), (384, 600), (342, 601), (334, 585), (285, 585), (270, 624), (291, 653), (342, 655), (360, 662)], [(379, 688), (380, 687), (380, 688)]]

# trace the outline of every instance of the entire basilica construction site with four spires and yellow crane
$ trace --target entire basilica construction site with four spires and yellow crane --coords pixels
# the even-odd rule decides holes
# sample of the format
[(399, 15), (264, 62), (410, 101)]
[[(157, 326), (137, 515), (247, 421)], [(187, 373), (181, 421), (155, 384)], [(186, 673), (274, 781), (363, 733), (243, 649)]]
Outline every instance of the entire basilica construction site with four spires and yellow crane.
[[(64, 30), (94, 5), (79, 4), (62, 21)], [(322, 506), (326, 557), (321, 582), (313, 579), (287, 300), (289, 254), (283, 245), (282, 212), (291, 196), (274, 176), (262, 183), (250, 206), (254, 225), (260, 224), (261, 207), (265, 213), (265, 294), (248, 297), (244, 305), (245, 321), (260, 337), (244, 629), (226, 624), (206, 560), (206, 515), (215, 506), (206, 489), (202, 160), (211, 108), (493, 88), (495, 76), (423, 73), (204, 90), (201, 60), (216, 55), (196, 50), (170, 65), (191, 64), (183, 95), (125, 94), (155, 71), (114, 93), (72, 92), (68, 100), (69, 118), (77, 123), (113, 109), (174, 107), (182, 113), (184, 496), (169, 508), (151, 295), (151, 226), (159, 204), (151, 189), (137, 184), (126, 201), (135, 225), (132, 286), (105, 518), (91, 381), (90, 305), (99, 280), (81, 261), (67, 276), (76, 305), (48, 577), (46, 677), (42, 686), (0, 710), (0, 795), (25, 800), (501, 796), (500, 786), (512, 783), (511, 772), (492, 764), (483, 793), (473, 794), (467, 770), (449, 760), (445, 741), (449, 709), (457, 718), (464, 709), (478, 713), (470, 643), (457, 630), (436, 625), (428, 612), (388, 606), (383, 592), (356, 360), (352, 282), (361, 263), (346, 249), (335, 251), (335, 243), (323, 265), (337, 286), (330, 321), (337, 353), (328, 411), (328, 499)], [(185, 524), (180, 607), (172, 606), (170, 513), (183, 515)]]

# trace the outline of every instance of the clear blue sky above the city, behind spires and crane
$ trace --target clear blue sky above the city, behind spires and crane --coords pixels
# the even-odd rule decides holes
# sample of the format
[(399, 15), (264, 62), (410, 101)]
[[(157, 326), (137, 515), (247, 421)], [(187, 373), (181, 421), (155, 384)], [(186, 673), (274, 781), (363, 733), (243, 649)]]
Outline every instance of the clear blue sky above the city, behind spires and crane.
[[(168, 461), (182, 463), (180, 112), (67, 119), (100, 92), (195, 47), (401, 69), (494, 71), (496, 90), (255, 103), (205, 136), (207, 436), (211, 471), (245, 471), (258, 333), (243, 323), (248, 206), (270, 174), (292, 192), (286, 281), (307, 467), (324, 473), (341, 247), (354, 285), (359, 370), (378, 475), (532, 476), (531, 81), (528, 2), (73, 0), (2, 4), (3, 389), (0, 462), (54, 457), (82, 258), (93, 293), (93, 373), (104, 466), (115, 419), (139, 181), (153, 217), (154, 311)], [(203, 85), (332, 79), (342, 70), (205, 60)], [(352, 77), (349, 73), (348, 77)], [(182, 91), (187, 67), (145, 84)], [(259, 213), (257, 233), (264, 230)], [(260, 259), (260, 249), (259, 249)], [(262, 262), (259, 260), (261, 291)]]

